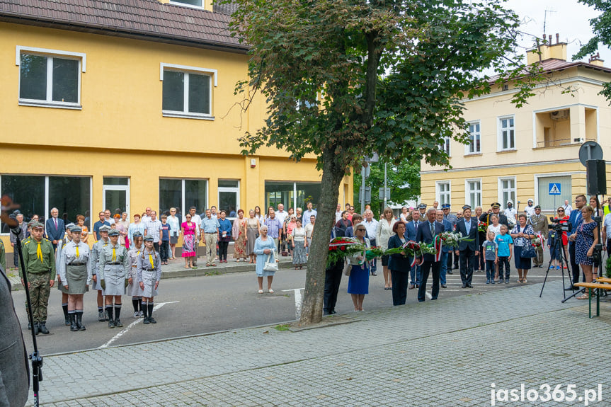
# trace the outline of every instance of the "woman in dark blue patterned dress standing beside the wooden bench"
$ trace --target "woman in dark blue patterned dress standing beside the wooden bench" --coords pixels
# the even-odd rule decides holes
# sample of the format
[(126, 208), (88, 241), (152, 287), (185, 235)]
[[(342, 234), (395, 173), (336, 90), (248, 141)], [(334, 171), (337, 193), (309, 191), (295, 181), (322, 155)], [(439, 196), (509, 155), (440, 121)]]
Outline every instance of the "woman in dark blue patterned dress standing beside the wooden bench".
[[(577, 230), (569, 239), (575, 241), (575, 262), (581, 265), (583, 274), (586, 275), (586, 282), (592, 282), (597, 277), (592, 273), (594, 259), (594, 246), (598, 244), (598, 224), (592, 219), (594, 209), (591, 206), (583, 207), (581, 217), (583, 221), (578, 224)], [(577, 299), (588, 299), (588, 294), (583, 294)]]

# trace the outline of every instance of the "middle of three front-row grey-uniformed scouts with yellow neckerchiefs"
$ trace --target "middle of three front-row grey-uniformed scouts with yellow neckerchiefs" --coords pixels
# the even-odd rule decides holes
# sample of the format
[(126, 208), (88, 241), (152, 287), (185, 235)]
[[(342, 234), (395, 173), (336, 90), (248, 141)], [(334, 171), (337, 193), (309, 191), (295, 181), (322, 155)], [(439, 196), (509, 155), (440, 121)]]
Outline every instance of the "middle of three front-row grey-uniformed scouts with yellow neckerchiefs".
[[(108, 328), (121, 327), (121, 296), (129, 284), (130, 256), (127, 249), (119, 243), (119, 231), (110, 229), (110, 241), (102, 246), (98, 257), (98, 280), (104, 290)], [(113, 300), (115, 318), (113, 319)]]

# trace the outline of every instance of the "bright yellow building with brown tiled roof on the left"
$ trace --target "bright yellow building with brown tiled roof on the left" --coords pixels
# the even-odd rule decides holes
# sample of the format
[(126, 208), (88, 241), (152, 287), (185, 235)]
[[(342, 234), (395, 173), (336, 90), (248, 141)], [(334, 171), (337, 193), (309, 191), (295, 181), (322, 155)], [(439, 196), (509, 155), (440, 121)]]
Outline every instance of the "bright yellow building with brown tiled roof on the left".
[[(316, 205), (314, 156), (243, 156), (265, 103), (234, 95), (247, 47), (210, 0), (0, 1), (0, 195), (25, 220), (153, 207)], [(18, 2), (17, 2), (18, 3)], [(35, 6), (35, 4), (37, 4)], [(85, 4), (85, 5), (84, 5)], [(350, 201), (346, 177), (340, 202)], [(46, 214), (46, 216), (45, 216)], [(8, 250), (8, 230), (2, 226)]]

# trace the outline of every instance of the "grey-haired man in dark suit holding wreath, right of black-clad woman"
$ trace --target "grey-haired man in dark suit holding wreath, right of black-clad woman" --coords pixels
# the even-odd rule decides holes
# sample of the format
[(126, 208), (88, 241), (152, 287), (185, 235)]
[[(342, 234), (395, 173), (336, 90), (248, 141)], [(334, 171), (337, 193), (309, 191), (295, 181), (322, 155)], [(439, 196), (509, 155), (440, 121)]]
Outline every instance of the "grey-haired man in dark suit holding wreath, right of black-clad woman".
[[(440, 234), (444, 227), (439, 222), (435, 222), (437, 211), (435, 208), (430, 208), (426, 212), (426, 220), (421, 223), (416, 233), (416, 241), (422, 243), (433, 243), (435, 235)], [(424, 254), (420, 270), (420, 287), (418, 287), (418, 302), (423, 302), (426, 299), (426, 280), (428, 273), (433, 270), (433, 290), (431, 291), (431, 299), (437, 299), (439, 295), (439, 272), (441, 270), (441, 262), (435, 260), (435, 255)]]

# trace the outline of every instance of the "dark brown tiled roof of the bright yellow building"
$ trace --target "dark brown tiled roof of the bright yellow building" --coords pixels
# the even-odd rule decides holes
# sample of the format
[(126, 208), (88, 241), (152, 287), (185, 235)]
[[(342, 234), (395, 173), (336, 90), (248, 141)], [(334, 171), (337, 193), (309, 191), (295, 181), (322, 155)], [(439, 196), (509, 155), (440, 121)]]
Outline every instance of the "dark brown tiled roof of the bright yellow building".
[(158, 0), (0, 0), (0, 21), (245, 53), (229, 33), (231, 5), (214, 9)]

